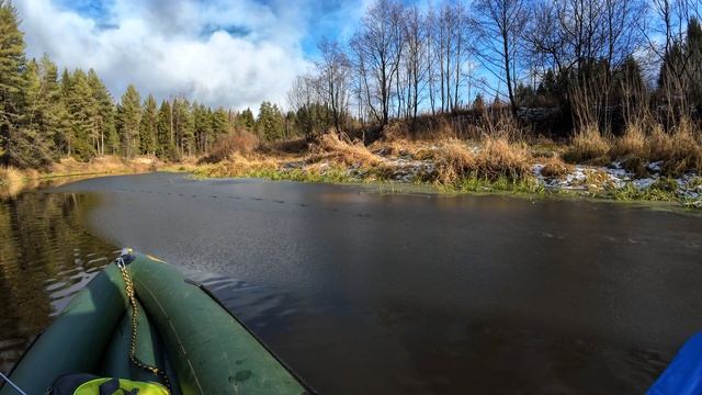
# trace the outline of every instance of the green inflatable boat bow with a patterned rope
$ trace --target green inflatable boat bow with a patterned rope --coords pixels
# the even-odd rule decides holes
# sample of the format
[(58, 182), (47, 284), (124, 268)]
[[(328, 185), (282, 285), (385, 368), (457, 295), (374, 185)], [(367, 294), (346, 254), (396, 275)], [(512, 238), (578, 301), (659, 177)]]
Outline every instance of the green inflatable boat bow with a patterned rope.
[(0, 395), (58, 394), (61, 380), (91, 381), (75, 394), (109, 381), (138, 394), (314, 393), (204, 287), (131, 250), (76, 294)]

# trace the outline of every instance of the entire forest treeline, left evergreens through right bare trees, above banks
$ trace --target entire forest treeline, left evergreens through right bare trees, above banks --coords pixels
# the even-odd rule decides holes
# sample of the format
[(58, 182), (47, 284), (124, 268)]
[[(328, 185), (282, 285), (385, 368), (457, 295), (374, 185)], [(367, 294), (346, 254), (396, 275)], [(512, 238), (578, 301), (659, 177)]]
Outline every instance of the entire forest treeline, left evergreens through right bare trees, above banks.
[(421, 117), (475, 119), (486, 108), (525, 126), (525, 110), (537, 109), (567, 131), (608, 134), (639, 120), (668, 129), (702, 114), (701, 12), (700, 0), (377, 0), (348, 41), (319, 43), (290, 111), (264, 102), (254, 116), (183, 97), (159, 103), (134, 86), (113, 98), (94, 70), (27, 59), (20, 15), (0, 0), (0, 162), (172, 160), (238, 131), (265, 140), (382, 136), (396, 120), (417, 134)]

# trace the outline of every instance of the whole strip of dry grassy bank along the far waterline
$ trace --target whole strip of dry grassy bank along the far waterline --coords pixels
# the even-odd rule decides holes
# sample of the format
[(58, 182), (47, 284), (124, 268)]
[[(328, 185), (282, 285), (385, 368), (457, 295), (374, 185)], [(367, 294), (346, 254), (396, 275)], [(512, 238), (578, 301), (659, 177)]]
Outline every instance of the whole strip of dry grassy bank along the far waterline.
[(241, 132), (219, 142), (207, 156), (181, 163), (103, 157), (88, 163), (65, 159), (45, 172), (4, 168), (0, 188), (16, 191), (58, 176), (158, 169), (203, 178), (403, 183), (446, 193), (578, 195), (702, 208), (702, 134), (689, 122), (667, 132), (654, 123), (631, 123), (620, 136), (584, 127), (567, 140), (525, 137), (533, 133), (503, 121), (487, 123), (463, 139), (446, 131), (412, 139), (403, 125), (390, 131), (371, 145), (336, 133), (262, 143)]

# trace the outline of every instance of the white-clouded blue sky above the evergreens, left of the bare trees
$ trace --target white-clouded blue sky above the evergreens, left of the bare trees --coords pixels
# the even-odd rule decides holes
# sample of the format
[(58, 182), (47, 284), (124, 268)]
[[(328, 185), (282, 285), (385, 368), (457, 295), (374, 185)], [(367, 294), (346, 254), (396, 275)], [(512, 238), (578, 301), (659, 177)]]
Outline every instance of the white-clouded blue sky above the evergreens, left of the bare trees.
[(322, 36), (355, 29), (365, 0), (20, 0), (27, 53), (93, 68), (115, 98), (128, 83), (157, 99), (285, 104)]

